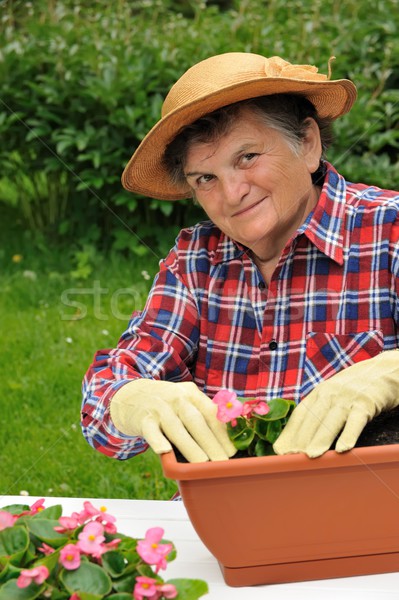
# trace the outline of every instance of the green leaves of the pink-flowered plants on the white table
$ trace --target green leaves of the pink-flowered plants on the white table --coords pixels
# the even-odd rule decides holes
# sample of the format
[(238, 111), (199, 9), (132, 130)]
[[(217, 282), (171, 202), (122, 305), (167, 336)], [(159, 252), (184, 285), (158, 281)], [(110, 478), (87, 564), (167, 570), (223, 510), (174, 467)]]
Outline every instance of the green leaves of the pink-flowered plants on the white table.
[[(60, 535), (54, 532), (54, 527), (60, 527), (58, 518), (62, 514), (61, 506), (56, 505), (38, 512), (35, 512), (37, 509), (34, 507), (35, 505), (14, 505), (0, 509), (6, 515), (10, 513), (17, 517), (0, 531), (0, 600), (68, 600), (72, 596), (81, 600), (123, 600), (126, 597), (132, 598), (136, 577), (139, 575), (150, 577), (154, 585), (171, 583), (163, 581), (154, 570), (153, 562), (149, 564), (145, 557), (141, 558), (140, 551), (137, 551), (137, 539), (119, 533), (116, 528), (115, 533), (108, 533), (104, 523), (99, 524), (100, 511), (97, 512), (100, 517), (90, 516), (82, 511), (75, 525)], [(58, 515), (56, 520), (51, 518), (53, 514)], [(102, 540), (98, 541), (102, 550), (101, 561), (90, 551), (79, 548), (79, 534), (93, 523), (100, 527), (102, 535)], [(116, 540), (114, 549), (109, 550), (107, 544)], [(159, 542), (161, 545), (165, 543), (161, 540)], [(43, 544), (50, 546), (50, 553), (44, 553)], [(67, 545), (72, 545), (79, 556), (79, 562), (73, 568), (62, 558), (62, 549)], [(167, 555), (169, 561), (176, 557), (173, 544), (170, 546)], [(17, 580), (22, 571), (35, 568), (44, 571), (41, 581), (30, 582), (24, 588), (18, 587)], [(197, 600), (208, 592), (207, 584), (201, 580), (174, 581), (181, 592), (181, 598), (186, 600)]]

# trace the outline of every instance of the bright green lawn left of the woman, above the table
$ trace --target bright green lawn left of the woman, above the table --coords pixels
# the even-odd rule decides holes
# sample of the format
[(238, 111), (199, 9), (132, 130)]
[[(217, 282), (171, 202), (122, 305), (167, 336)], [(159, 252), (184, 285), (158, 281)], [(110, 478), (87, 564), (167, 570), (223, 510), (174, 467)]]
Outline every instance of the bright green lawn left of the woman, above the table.
[(141, 307), (151, 283), (141, 271), (152, 279), (155, 257), (99, 257), (77, 281), (67, 252), (38, 252), (13, 233), (0, 250), (0, 493), (169, 499), (175, 483), (151, 451), (108, 458), (87, 444), (79, 422), (84, 372)]

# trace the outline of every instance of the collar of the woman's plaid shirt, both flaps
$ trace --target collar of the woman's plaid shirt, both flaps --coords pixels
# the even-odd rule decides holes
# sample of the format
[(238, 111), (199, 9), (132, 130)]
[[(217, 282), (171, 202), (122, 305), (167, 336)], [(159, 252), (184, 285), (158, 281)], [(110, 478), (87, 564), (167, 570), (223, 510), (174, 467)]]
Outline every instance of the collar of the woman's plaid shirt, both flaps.
[[(319, 201), (295, 237), (305, 235), (323, 254), (343, 264), (346, 182), (334, 167), (327, 167)], [(212, 264), (238, 258), (248, 249), (220, 232), (219, 242), (211, 258)]]

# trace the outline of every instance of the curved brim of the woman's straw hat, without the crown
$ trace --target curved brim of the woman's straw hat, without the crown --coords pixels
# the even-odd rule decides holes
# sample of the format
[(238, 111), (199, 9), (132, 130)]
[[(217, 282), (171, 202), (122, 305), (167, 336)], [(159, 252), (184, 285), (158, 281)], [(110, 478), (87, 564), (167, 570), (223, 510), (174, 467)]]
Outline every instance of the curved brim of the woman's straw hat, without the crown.
[(159, 200), (191, 197), (188, 186), (178, 186), (171, 181), (163, 164), (166, 146), (183, 127), (218, 108), (276, 93), (302, 94), (313, 103), (320, 117), (332, 120), (349, 112), (357, 95), (355, 85), (348, 79), (320, 82), (281, 77), (253, 79), (207, 94), (170, 112), (154, 125), (126, 165), (123, 187)]

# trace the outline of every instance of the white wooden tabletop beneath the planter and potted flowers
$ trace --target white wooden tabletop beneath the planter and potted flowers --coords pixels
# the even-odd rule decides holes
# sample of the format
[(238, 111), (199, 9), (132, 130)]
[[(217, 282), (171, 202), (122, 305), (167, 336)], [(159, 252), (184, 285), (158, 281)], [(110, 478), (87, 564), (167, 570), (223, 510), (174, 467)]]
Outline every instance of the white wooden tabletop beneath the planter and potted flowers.
[[(38, 497), (0, 496), (0, 507), (7, 504), (31, 505)], [(63, 515), (83, 508), (84, 500), (94, 506), (106, 506), (117, 519), (118, 531), (140, 538), (150, 527), (163, 527), (165, 538), (177, 550), (177, 558), (161, 572), (167, 580), (189, 577), (205, 580), (209, 600), (399, 600), (399, 565), (397, 573), (325, 579), (279, 585), (233, 588), (224, 583), (215, 558), (194, 531), (182, 502), (159, 500), (107, 500), (104, 498), (46, 498), (45, 506), (61, 504)], [(370, 515), (370, 518), (373, 518)]]

